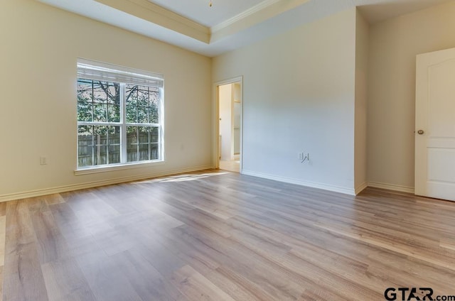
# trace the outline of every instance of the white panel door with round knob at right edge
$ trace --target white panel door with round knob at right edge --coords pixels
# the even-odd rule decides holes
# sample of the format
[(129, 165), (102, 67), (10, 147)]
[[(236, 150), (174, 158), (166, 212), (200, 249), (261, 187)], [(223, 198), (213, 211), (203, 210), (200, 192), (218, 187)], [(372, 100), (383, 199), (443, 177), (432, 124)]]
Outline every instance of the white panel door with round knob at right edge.
[(417, 55), (415, 194), (455, 201), (455, 48)]

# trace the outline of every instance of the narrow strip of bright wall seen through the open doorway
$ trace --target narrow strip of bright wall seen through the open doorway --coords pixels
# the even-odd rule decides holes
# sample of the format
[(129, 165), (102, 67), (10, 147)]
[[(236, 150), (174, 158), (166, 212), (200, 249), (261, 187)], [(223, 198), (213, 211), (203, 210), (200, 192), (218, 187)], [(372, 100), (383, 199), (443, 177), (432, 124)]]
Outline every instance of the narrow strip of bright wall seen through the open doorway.
[(231, 160), (232, 148), (232, 84), (219, 87), (221, 160)]

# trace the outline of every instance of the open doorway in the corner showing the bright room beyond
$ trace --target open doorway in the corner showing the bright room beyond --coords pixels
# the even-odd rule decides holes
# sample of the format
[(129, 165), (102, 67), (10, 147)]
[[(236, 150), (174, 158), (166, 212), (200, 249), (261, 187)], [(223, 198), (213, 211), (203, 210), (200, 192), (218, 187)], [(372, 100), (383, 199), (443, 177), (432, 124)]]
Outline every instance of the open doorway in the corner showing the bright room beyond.
[(217, 84), (218, 167), (240, 173), (242, 168), (242, 81)]

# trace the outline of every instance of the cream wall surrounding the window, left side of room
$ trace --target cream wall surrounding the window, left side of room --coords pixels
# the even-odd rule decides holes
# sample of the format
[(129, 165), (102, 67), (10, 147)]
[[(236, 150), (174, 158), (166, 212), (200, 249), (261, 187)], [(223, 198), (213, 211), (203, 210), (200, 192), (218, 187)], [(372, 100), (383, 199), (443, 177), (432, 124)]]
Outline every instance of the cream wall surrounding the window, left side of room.
[[(210, 58), (33, 0), (0, 1), (0, 40), (0, 200), (212, 166)], [(74, 175), (78, 57), (164, 74), (164, 165)]]

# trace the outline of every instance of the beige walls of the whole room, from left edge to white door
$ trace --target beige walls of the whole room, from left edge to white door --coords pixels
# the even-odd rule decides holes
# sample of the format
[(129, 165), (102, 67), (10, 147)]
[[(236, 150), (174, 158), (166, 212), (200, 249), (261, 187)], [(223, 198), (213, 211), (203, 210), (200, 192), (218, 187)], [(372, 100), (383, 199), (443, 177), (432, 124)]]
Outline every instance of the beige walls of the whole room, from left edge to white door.
[[(1, 1), (0, 200), (211, 166), (210, 82), (240, 75), (245, 172), (343, 192), (365, 178), (412, 191), (415, 55), (454, 48), (454, 16), (450, 1), (368, 29), (350, 9), (212, 64), (38, 1)], [(164, 74), (165, 164), (74, 175), (78, 57)]]

